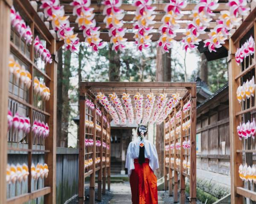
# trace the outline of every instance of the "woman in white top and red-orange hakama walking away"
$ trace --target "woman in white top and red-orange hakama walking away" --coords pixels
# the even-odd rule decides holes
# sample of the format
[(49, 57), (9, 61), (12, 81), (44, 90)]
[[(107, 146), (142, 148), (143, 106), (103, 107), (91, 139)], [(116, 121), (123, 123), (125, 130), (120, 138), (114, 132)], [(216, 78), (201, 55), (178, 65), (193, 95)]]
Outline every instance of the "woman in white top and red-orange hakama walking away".
[(137, 130), (139, 138), (130, 142), (125, 168), (130, 177), (132, 204), (157, 204), (157, 177), (154, 170), (159, 168), (157, 150), (146, 140), (147, 127), (140, 125)]

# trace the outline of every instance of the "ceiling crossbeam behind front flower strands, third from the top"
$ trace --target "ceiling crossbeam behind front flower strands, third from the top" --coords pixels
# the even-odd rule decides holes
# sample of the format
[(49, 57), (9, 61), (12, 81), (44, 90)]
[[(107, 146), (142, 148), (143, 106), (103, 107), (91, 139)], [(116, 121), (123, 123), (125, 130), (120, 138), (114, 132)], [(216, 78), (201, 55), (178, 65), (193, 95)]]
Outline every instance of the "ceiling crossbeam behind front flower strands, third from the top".
[[(123, 28), (127, 28), (127, 29), (132, 29), (134, 23), (124, 23), (124, 25), (122, 26)], [(154, 27), (154, 29), (158, 29), (160, 28), (160, 26), (162, 26), (163, 23), (154, 23), (154, 25), (152, 25)], [(217, 25), (216, 22), (210, 22), (209, 26), (207, 28), (212, 29)], [(70, 23), (71, 27), (74, 27), (74, 31), (77, 33), (79, 32), (79, 27), (77, 23)], [(97, 23), (96, 26), (99, 26), (101, 29), (107, 29), (106, 28), (106, 23)], [(180, 23), (180, 28), (186, 28), (187, 27), (187, 23)]]

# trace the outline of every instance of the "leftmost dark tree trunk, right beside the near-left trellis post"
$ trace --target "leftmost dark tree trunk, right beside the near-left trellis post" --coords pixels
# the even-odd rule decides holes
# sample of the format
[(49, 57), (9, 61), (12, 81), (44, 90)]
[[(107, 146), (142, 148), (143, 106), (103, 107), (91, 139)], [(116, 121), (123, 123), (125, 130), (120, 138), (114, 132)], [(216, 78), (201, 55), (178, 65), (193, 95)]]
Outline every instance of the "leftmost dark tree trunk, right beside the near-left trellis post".
[(58, 65), (57, 65), (57, 146), (61, 146), (61, 127), (62, 127), (62, 78), (63, 78), (63, 63), (62, 63), (62, 48), (58, 50)]

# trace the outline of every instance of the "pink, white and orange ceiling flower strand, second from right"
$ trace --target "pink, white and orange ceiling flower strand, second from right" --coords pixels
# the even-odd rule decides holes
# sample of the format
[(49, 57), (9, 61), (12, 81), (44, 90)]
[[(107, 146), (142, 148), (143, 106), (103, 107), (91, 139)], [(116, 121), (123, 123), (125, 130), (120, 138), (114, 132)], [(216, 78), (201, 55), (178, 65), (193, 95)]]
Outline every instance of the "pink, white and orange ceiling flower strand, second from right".
[(192, 10), (190, 17), (193, 17), (192, 22), (189, 22), (184, 33), (186, 37), (183, 37), (184, 42), (183, 49), (195, 49), (197, 48), (201, 39), (200, 34), (205, 33), (205, 29), (209, 26), (209, 22), (212, 20), (212, 16), (215, 14), (212, 12), (218, 8), (218, 3), (215, 0), (201, 0)]

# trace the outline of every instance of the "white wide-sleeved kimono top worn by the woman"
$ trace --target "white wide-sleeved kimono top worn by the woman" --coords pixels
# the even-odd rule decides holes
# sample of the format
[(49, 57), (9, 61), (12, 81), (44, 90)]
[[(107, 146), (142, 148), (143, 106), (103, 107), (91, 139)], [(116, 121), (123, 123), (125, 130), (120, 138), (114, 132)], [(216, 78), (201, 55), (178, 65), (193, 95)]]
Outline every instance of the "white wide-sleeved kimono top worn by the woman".
[(143, 139), (142, 141), (140, 141), (140, 139), (138, 138), (137, 140), (130, 142), (127, 149), (125, 168), (128, 169), (128, 176), (130, 176), (131, 171), (135, 169), (134, 159), (139, 158), (141, 142), (143, 142), (145, 146), (145, 158), (149, 159), (149, 167), (153, 171), (159, 168), (156, 147), (148, 140)]

